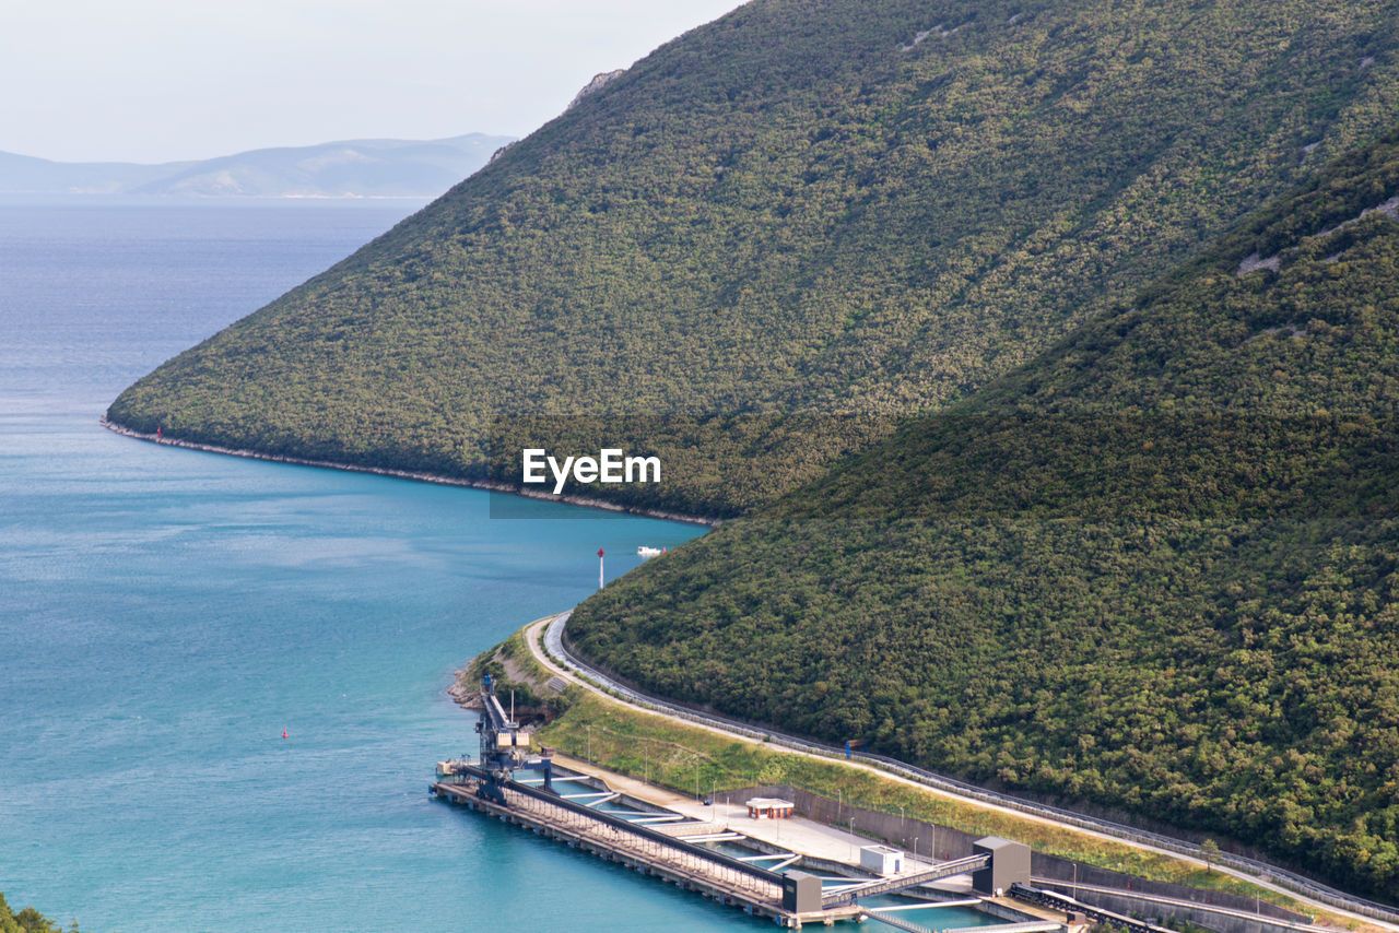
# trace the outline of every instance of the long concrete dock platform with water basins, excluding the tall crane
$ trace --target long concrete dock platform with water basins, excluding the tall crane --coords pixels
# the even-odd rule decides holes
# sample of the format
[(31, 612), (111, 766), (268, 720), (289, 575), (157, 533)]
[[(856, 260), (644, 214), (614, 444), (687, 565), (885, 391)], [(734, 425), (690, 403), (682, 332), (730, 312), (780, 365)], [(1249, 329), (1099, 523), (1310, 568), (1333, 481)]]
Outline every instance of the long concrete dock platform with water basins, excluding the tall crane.
[[(1065, 923), (1067, 918), (1063, 913), (1025, 909), (999, 897), (1009, 881), (992, 877), (978, 881), (978, 890), (995, 890), (997, 897), (970, 890), (971, 871), (978, 871), (979, 877), (1002, 869), (1020, 870), (1028, 880), (1030, 853), (1020, 843), (985, 838), (974, 846), (972, 856), (950, 862), (901, 853), (902, 867), (886, 874), (888, 869), (865, 864), (865, 856), (872, 849), (862, 852), (862, 848), (869, 845), (869, 839), (845, 828), (796, 816), (753, 818), (747, 806), (694, 800), (634, 778), (599, 771), (551, 750), (550, 762), (555, 790), (544, 789), (544, 778), (515, 781), (501, 769), (487, 771), (467, 761), (439, 762), (438, 781), (429, 790), (442, 800), (464, 804), (750, 915), (772, 919), (788, 929), (874, 919), (898, 929), (926, 930), (915, 919), (905, 919), (904, 912), (933, 904), (891, 908), (887, 902), (872, 906), (862, 901), (907, 890), (915, 899), (932, 897), (942, 901), (951, 894), (961, 898), (956, 906), (977, 906), (1006, 920), (1002, 927), (979, 927), (988, 929), (988, 933), (999, 929), (1006, 933), (1081, 930), (1077, 925)], [(609, 802), (621, 806), (625, 813), (602, 806)], [(733, 846), (716, 848), (712, 845), (716, 841), (736, 845), (737, 852)], [(1013, 849), (1020, 850), (1018, 855)], [(753, 855), (741, 855), (744, 850)], [(893, 849), (888, 853), (900, 855)], [(1016, 867), (1018, 862), (1024, 863), (1020, 869)], [(825, 877), (831, 874), (839, 878)], [(827, 887), (844, 878), (849, 878), (851, 884)], [(933, 891), (932, 885), (939, 890)]]

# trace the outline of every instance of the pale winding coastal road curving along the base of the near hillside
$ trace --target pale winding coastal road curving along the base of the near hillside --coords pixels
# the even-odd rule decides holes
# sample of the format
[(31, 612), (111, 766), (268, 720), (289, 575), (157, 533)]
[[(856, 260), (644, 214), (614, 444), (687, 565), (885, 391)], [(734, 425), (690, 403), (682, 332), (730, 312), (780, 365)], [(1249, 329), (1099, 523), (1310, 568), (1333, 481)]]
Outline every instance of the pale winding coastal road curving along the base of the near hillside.
[[(618, 683), (616, 678), (602, 670), (597, 670), (568, 650), (564, 629), (568, 625), (569, 615), (572, 615), (572, 610), (560, 613), (558, 615), (548, 615), (530, 622), (525, 629), (525, 642), (529, 645), (534, 659), (565, 680), (579, 684), (596, 694), (645, 709), (646, 712), (697, 725), (730, 739), (747, 739), (750, 741), (767, 743), (797, 754), (817, 758), (846, 758), (845, 750), (837, 748), (835, 746), (824, 746), (821, 743), (774, 732), (772, 729), (764, 726), (754, 726), (751, 723), (739, 722), (726, 716), (691, 709)], [(851, 767), (873, 771), (881, 776), (916, 785), (933, 793), (975, 803), (990, 810), (1011, 813), (1038, 822), (1055, 827), (1067, 827), (1101, 839), (1111, 839), (1146, 852), (1167, 855), (1191, 864), (1205, 866), (1205, 860), (1199, 857), (1199, 846), (1184, 839), (1136, 829), (1121, 822), (1100, 820), (1081, 813), (1073, 813), (1072, 810), (1065, 810), (1062, 807), (1032, 803), (1010, 795), (996, 793), (993, 790), (986, 790), (983, 788), (957, 781), (956, 778), (947, 778), (932, 771), (915, 768), (884, 755), (853, 753), (849, 758), (848, 764), (851, 764)], [(1349, 895), (1343, 891), (1337, 891), (1266, 862), (1231, 853), (1221, 853), (1217, 859), (1213, 859), (1213, 867), (1269, 891), (1293, 897), (1312, 908), (1330, 911), (1332, 913), (1337, 913), (1351, 920), (1361, 920), (1399, 933), (1399, 911), (1395, 908)]]

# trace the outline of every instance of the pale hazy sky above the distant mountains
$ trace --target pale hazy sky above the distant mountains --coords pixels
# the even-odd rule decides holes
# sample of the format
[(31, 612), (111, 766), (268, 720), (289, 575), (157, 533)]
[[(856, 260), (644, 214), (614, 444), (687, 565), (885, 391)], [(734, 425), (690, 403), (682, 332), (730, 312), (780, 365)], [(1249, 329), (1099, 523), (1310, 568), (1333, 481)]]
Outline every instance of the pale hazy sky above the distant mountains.
[(7, 0), (0, 150), (162, 162), (525, 136), (739, 0)]

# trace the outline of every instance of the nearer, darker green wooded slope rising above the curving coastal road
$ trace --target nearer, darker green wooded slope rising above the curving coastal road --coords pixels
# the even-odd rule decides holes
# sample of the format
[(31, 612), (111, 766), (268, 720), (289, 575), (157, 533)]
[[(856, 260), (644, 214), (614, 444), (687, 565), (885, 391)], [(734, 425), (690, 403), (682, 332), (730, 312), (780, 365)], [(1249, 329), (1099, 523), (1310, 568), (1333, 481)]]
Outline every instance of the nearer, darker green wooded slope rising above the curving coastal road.
[(1399, 898), (1399, 130), (569, 634), (670, 697)]

